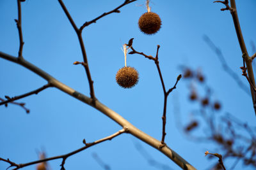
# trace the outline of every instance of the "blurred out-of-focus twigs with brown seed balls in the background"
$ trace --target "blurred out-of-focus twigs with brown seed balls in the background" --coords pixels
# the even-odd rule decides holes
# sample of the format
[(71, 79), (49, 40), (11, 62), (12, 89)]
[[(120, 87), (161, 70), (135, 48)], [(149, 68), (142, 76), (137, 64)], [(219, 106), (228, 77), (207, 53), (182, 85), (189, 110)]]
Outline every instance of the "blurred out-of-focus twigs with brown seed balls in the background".
[[(189, 83), (198, 83), (206, 93), (206, 96), (201, 97), (195, 87), (190, 89), (189, 100), (199, 103), (200, 108), (191, 111), (195, 118), (182, 127), (186, 136), (196, 142), (216, 144), (214, 150), (223, 155), (221, 162), (222, 159), (234, 159), (230, 169), (233, 169), (239, 160), (245, 165), (256, 167), (256, 127), (251, 127), (230, 113), (223, 113), (221, 103), (212, 100), (212, 89), (205, 83), (202, 73), (184, 67), (184, 79), (189, 80)], [(196, 136), (198, 131), (203, 135)], [(221, 167), (223, 168), (223, 165)]]

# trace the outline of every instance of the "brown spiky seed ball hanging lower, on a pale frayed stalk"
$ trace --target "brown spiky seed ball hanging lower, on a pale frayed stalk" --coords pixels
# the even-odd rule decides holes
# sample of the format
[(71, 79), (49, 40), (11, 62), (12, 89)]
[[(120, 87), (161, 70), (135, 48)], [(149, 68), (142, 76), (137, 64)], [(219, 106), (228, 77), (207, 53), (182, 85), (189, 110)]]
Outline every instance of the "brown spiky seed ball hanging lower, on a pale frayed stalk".
[(116, 83), (123, 88), (132, 88), (138, 83), (139, 74), (134, 67), (122, 67), (116, 73)]

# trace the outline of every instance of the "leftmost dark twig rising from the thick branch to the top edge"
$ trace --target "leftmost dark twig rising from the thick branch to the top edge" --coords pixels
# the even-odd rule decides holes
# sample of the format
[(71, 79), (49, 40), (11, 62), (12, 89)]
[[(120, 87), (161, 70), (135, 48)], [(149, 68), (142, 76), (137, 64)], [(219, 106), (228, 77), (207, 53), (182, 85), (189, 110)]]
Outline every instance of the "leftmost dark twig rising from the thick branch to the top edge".
[(21, 27), (21, 4), (20, 4), (20, 0), (17, 0), (17, 3), (18, 3), (18, 20), (15, 19), (15, 22), (17, 24), (17, 28), (18, 28), (18, 31), (19, 31), (19, 39), (20, 39), (19, 58), (21, 58), (24, 41), (23, 41), (22, 27)]

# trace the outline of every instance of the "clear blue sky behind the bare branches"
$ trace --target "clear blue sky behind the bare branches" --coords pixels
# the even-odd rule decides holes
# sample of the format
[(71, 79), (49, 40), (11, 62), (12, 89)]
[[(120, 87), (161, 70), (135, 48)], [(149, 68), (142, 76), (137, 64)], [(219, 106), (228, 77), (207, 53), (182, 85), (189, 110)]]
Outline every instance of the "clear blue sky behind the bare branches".
[[(123, 3), (117, 0), (63, 2), (79, 27)], [(249, 55), (252, 55), (255, 52), (250, 42), (256, 44), (256, 1), (237, 0), (236, 3), (244, 41)], [(220, 11), (224, 6), (212, 3), (212, 0), (152, 0), (150, 6), (161, 17), (163, 24), (160, 31), (152, 36), (142, 34), (138, 28), (138, 19), (147, 11), (144, 0), (128, 4), (120, 9), (121, 13), (101, 18), (84, 29), (83, 39), (97, 99), (141, 131), (161, 139), (163, 90), (154, 62), (141, 55), (128, 55), (127, 65), (135, 67), (140, 74), (138, 85), (132, 89), (122, 89), (115, 82), (116, 72), (124, 67), (121, 47), (134, 38), (134, 48), (148, 55), (154, 56), (157, 45), (161, 46), (159, 63), (166, 88), (172, 87), (176, 77), (182, 73), (179, 66), (200, 68), (206, 76), (207, 85), (214, 90), (214, 99), (221, 101), (223, 108), (220, 114), (228, 112), (243, 122), (255, 125), (251, 97), (223, 71), (220, 60), (203, 39), (204, 34), (211, 38), (221, 49), (228, 66), (247, 85), (246, 79), (240, 76), (242, 54), (230, 12)], [(0, 51), (17, 56), (19, 34), (15, 18), (17, 1), (0, 0)], [(23, 56), (26, 60), (89, 96), (83, 67), (72, 64), (83, 60), (79, 41), (57, 0), (27, 0), (22, 3), (22, 31), (25, 42)], [(0, 82), (2, 98), (5, 95), (24, 94), (47, 83), (24, 67), (3, 59), (0, 59)], [(216, 146), (189, 141), (175, 124), (174, 108), (177, 103), (182, 124), (191, 120), (191, 110), (196, 106), (189, 102), (188, 94), (188, 81), (182, 79), (168, 98), (166, 143), (197, 169), (206, 169), (218, 160), (205, 158), (204, 152), (216, 152)], [(29, 96), (19, 102), (26, 103), (31, 111), (29, 115), (19, 106), (0, 106), (0, 157), (17, 163), (38, 159), (36, 150), (45, 150), (48, 157), (61, 155), (83, 146), (84, 138), (92, 142), (121, 129), (99, 111), (58, 89), (46, 89), (37, 96)], [(102, 169), (93, 158), (93, 154), (97, 153), (113, 170), (156, 169), (138, 152), (138, 143), (157, 162), (179, 169), (162, 153), (129, 134), (122, 134), (112, 141), (69, 157), (65, 167)], [(225, 163), (230, 167), (232, 161)], [(49, 164), (51, 169), (60, 169), (61, 160)], [(0, 162), (0, 169), (6, 167), (8, 164)], [(240, 162), (236, 169), (241, 168), (252, 169), (243, 167)], [(35, 166), (24, 169), (35, 169)]]

